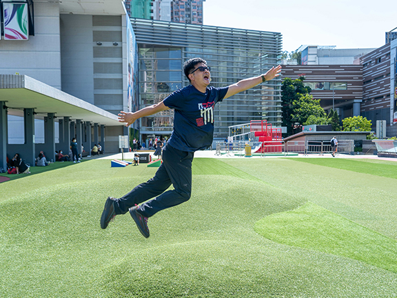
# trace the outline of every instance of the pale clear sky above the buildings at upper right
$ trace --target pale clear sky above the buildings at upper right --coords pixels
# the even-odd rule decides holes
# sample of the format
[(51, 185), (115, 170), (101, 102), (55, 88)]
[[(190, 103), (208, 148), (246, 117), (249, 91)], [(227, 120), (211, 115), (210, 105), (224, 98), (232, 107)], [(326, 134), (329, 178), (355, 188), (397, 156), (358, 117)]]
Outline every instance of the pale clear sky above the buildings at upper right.
[[(281, 32), (283, 50), (301, 45), (378, 48), (397, 27), (391, 0), (205, 0), (204, 25)], [(396, 30), (397, 31), (397, 30)]]

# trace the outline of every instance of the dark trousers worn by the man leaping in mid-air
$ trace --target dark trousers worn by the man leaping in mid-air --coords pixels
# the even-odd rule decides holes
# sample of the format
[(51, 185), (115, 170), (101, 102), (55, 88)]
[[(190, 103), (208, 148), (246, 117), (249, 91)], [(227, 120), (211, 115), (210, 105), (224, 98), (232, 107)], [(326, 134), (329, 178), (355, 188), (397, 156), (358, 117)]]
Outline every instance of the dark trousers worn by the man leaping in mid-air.
[[(193, 157), (194, 152), (185, 152), (169, 145), (165, 146), (163, 163), (156, 175), (147, 182), (136, 186), (127, 195), (117, 199), (114, 206), (116, 214), (127, 213), (128, 208), (145, 202), (139, 207), (139, 212), (145, 217), (151, 217), (156, 212), (190, 199)], [(165, 192), (171, 184), (174, 186), (174, 190)]]

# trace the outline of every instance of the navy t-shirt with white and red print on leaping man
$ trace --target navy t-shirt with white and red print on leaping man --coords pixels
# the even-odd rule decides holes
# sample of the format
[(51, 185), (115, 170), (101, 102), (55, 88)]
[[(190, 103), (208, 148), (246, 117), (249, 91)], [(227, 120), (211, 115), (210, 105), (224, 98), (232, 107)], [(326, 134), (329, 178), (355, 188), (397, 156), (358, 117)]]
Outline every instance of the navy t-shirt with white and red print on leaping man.
[(208, 148), (214, 137), (214, 106), (229, 87), (207, 87), (205, 93), (190, 85), (176, 90), (163, 103), (174, 109), (174, 130), (170, 146), (187, 152)]

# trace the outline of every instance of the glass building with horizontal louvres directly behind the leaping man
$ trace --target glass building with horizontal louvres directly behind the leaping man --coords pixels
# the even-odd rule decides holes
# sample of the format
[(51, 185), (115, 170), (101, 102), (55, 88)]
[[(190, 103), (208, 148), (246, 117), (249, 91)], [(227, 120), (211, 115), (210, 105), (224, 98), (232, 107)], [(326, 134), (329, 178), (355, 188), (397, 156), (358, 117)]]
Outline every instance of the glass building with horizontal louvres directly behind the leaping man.
[[(183, 63), (201, 57), (211, 67), (212, 86), (223, 87), (265, 73), (278, 63), (281, 34), (235, 28), (131, 19), (139, 48), (140, 108), (162, 101), (189, 81)], [(219, 103), (214, 139), (225, 139), (228, 126), (266, 119), (281, 126), (281, 80), (274, 79)], [(140, 119), (143, 141), (170, 135), (173, 111)]]

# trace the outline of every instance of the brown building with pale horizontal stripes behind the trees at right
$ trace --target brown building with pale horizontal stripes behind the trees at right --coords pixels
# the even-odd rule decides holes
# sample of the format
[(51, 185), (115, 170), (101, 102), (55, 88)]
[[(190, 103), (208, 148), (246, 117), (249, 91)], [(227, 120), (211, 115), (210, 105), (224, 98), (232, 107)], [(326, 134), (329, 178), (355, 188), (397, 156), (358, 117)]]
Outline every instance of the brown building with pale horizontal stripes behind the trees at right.
[(396, 136), (397, 40), (365, 51), (354, 60), (356, 63), (358, 59), (359, 65), (283, 66), (283, 76), (296, 79), (305, 75), (305, 83), (312, 88), (314, 98), (321, 99), (325, 110), (334, 106), (340, 119), (360, 115), (371, 120), (373, 130), (376, 121), (385, 120), (387, 136)]

